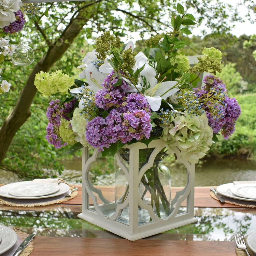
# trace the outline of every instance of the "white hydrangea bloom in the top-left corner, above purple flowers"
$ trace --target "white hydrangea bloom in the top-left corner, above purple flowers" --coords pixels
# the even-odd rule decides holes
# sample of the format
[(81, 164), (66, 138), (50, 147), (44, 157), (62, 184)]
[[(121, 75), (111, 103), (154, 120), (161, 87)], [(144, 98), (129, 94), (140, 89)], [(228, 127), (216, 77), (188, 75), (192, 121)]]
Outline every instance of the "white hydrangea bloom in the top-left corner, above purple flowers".
[(15, 12), (22, 6), (22, 0), (0, 0), (0, 28), (15, 22)]

